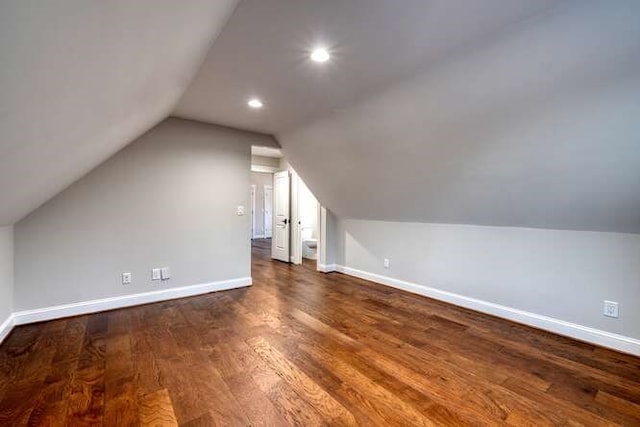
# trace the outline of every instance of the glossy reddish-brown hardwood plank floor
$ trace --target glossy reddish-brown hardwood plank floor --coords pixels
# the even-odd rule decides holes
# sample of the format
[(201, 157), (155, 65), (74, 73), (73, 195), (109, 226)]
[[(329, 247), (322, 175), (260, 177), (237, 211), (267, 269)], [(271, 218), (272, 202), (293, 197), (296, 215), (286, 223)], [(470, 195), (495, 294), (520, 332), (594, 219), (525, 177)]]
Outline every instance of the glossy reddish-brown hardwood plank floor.
[(640, 358), (253, 254), (251, 288), (17, 327), (0, 426), (640, 425)]

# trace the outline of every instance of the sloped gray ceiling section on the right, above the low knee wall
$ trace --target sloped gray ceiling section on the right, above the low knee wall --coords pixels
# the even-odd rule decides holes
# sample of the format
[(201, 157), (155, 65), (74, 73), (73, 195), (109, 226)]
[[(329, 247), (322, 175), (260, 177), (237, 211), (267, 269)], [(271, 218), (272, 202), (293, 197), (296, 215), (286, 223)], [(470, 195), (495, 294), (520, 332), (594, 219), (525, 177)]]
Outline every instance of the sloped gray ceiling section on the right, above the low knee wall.
[(640, 233), (639, 16), (567, 2), (277, 139), (342, 217)]

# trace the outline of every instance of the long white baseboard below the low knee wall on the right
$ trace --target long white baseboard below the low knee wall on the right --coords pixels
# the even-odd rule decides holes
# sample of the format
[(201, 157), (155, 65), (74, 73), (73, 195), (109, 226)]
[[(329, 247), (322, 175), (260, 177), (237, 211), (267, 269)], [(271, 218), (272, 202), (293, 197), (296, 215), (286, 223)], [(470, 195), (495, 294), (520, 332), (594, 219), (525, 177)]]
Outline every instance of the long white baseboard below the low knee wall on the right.
[[(343, 265), (334, 265), (333, 267), (334, 271), (338, 271), (349, 276), (359, 277), (371, 282), (380, 283), (382, 285), (445, 301), (471, 310), (502, 317), (524, 325), (544, 329), (558, 335), (564, 335), (577, 340), (586, 341), (588, 343), (612, 348), (624, 353), (640, 356), (640, 340), (636, 338), (625, 337), (623, 335), (590, 328), (588, 326), (582, 326), (576, 323), (566, 322), (564, 320), (542, 316), (540, 314), (506, 307), (504, 305), (494, 304), (492, 302), (482, 301), (428, 286), (405, 282), (403, 280), (369, 273), (355, 268), (345, 267)], [(318, 269), (320, 269), (320, 266), (318, 266)]]

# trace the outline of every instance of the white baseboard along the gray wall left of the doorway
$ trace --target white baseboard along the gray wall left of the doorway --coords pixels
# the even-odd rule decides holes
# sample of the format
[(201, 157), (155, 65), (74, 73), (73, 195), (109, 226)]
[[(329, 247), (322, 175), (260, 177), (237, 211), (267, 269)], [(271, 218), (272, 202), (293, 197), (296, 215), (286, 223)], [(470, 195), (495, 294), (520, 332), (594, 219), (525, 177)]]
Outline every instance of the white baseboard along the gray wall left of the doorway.
[[(92, 301), (83, 301), (73, 304), (37, 308), (35, 310), (18, 311), (13, 313), (12, 319), (15, 325), (24, 325), (27, 323), (42, 322), (45, 320), (78, 316), (81, 314), (114, 310), (117, 308), (130, 307), (133, 305), (149, 304), (152, 302), (207, 294), (209, 292), (226, 291), (229, 289), (251, 286), (251, 284), (251, 277), (241, 277), (238, 279), (221, 280), (218, 282), (202, 283), (198, 285), (183, 286), (180, 288), (162, 289), (140, 294), (122, 295)], [(13, 327), (13, 325), (11, 325), (11, 327)]]

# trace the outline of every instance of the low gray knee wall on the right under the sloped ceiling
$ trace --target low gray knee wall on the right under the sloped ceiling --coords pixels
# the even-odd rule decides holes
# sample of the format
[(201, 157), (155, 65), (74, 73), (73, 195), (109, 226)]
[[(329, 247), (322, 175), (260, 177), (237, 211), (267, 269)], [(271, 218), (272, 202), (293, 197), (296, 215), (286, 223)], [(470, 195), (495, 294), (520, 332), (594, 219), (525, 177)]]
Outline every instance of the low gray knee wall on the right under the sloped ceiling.
[(339, 265), (640, 338), (638, 234), (365, 220), (337, 234)]

